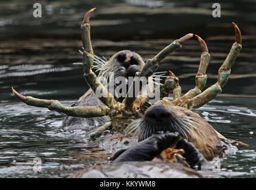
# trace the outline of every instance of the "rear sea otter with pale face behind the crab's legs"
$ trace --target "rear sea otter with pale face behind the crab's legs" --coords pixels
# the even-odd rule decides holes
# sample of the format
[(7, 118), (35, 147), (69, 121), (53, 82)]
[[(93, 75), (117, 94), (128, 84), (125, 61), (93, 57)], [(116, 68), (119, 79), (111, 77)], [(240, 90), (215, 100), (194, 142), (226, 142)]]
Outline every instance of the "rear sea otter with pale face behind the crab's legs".
[[(114, 78), (116, 77), (134, 77), (135, 73), (141, 71), (143, 66), (145, 65), (143, 59), (138, 53), (132, 52), (131, 50), (122, 50), (118, 53), (115, 53), (109, 61), (102, 62), (100, 65), (100, 72), (98, 73), (98, 77), (103, 77), (105, 79), (105, 87), (109, 87), (109, 82), (113, 83), (113, 80), (110, 80), (110, 74), (113, 74)], [(114, 90), (118, 84), (114, 84)], [(149, 81), (149, 85), (150, 81)], [(127, 84), (128, 88), (128, 84)], [(109, 89), (109, 88), (108, 88)], [(109, 89), (109, 92), (115, 97), (118, 102), (122, 102), (124, 97), (116, 97), (115, 93), (113, 94), (113, 90)], [(104, 105), (95, 93), (91, 90), (91, 88), (79, 98), (78, 102), (73, 104), (72, 106), (97, 106)], [(72, 116), (66, 116), (63, 121), (64, 129), (83, 129), (85, 131), (90, 131), (91, 129), (96, 128), (97, 126), (101, 126), (109, 120), (109, 116), (97, 117), (97, 118), (75, 118)]]

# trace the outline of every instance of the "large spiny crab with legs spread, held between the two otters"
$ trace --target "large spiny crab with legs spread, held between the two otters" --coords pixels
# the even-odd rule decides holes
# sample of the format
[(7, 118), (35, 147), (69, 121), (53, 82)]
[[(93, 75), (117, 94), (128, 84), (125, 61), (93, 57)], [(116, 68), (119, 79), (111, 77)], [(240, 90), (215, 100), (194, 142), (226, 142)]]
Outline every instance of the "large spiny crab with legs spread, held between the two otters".
[[(218, 93), (221, 93), (221, 88), (223, 88), (223, 86), (227, 83), (231, 67), (238, 57), (240, 49), (242, 48), (240, 30), (235, 23), (232, 23), (236, 34), (235, 43), (233, 43), (229, 55), (218, 70), (217, 83), (211, 85), (211, 87), (203, 91), (203, 87), (205, 87), (207, 79), (206, 69), (209, 64), (210, 54), (204, 40), (198, 35), (195, 35), (201, 44), (202, 53), (198, 73), (195, 77), (196, 85), (193, 89), (181, 96), (181, 87), (178, 84), (178, 77), (169, 71), (169, 76), (166, 78), (165, 83), (159, 85), (158, 88), (155, 88), (152, 91), (153, 95), (152, 93), (149, 93), (145, 96), (141, 95), (140, 91), (137, 91), (134, 93), (134, 96), (129, 97), (128, 94), (132, 93), (135, 83), (140, 80), (141, 77), (149, 78), (154, 72), (156, 72), (162, 59), (179, 49), (184, 42), (193, 37), (193, 34), (191, 33), (186, 34), (180, 39), (174, 40), (174, 42), (162, 49), (161, 52), (159, 52), (152, 59), (148, 59), (141, 71), (136, 72), (133, 83), (129, 87), (125, 99), (122, 102), (118, 102), (104, 87), (104, 85), (101, 84), (94, 71), (92, 71), (95, 55), (90, 39), (90, 17), (94, 10), (95, 8), (91, 9), (87, 12), (87, 14), (85, 14), (81, 25), (82, 43), (84, 47), (84, 51), (82, 52), (84, 78), (94, 93), (97, 90), (101, 91), (103, 96), (98, 97), (98, 99), (100, 99), (104, 105), (66, 107), (58, 102), (58, 100), (36, 99), (31, 96), (23, 96), (12, 88), (14, 95), (22, 102), (30, 106), (47, 107), (49, 110), (55, 110), (57, 112), (65, 113), (68, 116), (80, 118), (95, 118), (106, 115), (110, 116), (110, 121), (98, 127), (97, 130), (91, 134), (91, 137), (97, 137), (103, 131), (110, 128), (118, 132), (124, 132), (127, 129), (131, 131), (134, 129), (134, 123), (136, 123), (135, 121), (142, 118), (147, 108), (153, 105), (150, 103), (150, 100), (155, 97), (154, 94), (156, 94), (157, 91), (160, 95), (160, 100), (158, 100), (158, 102), (155, 104), (180, 106), (189, 110), (205, 105), (205, 103), (214, 99)], [(173, 100), (164, 99), (164, 97), (169, 97), (170, 94), (172, 94)]]

